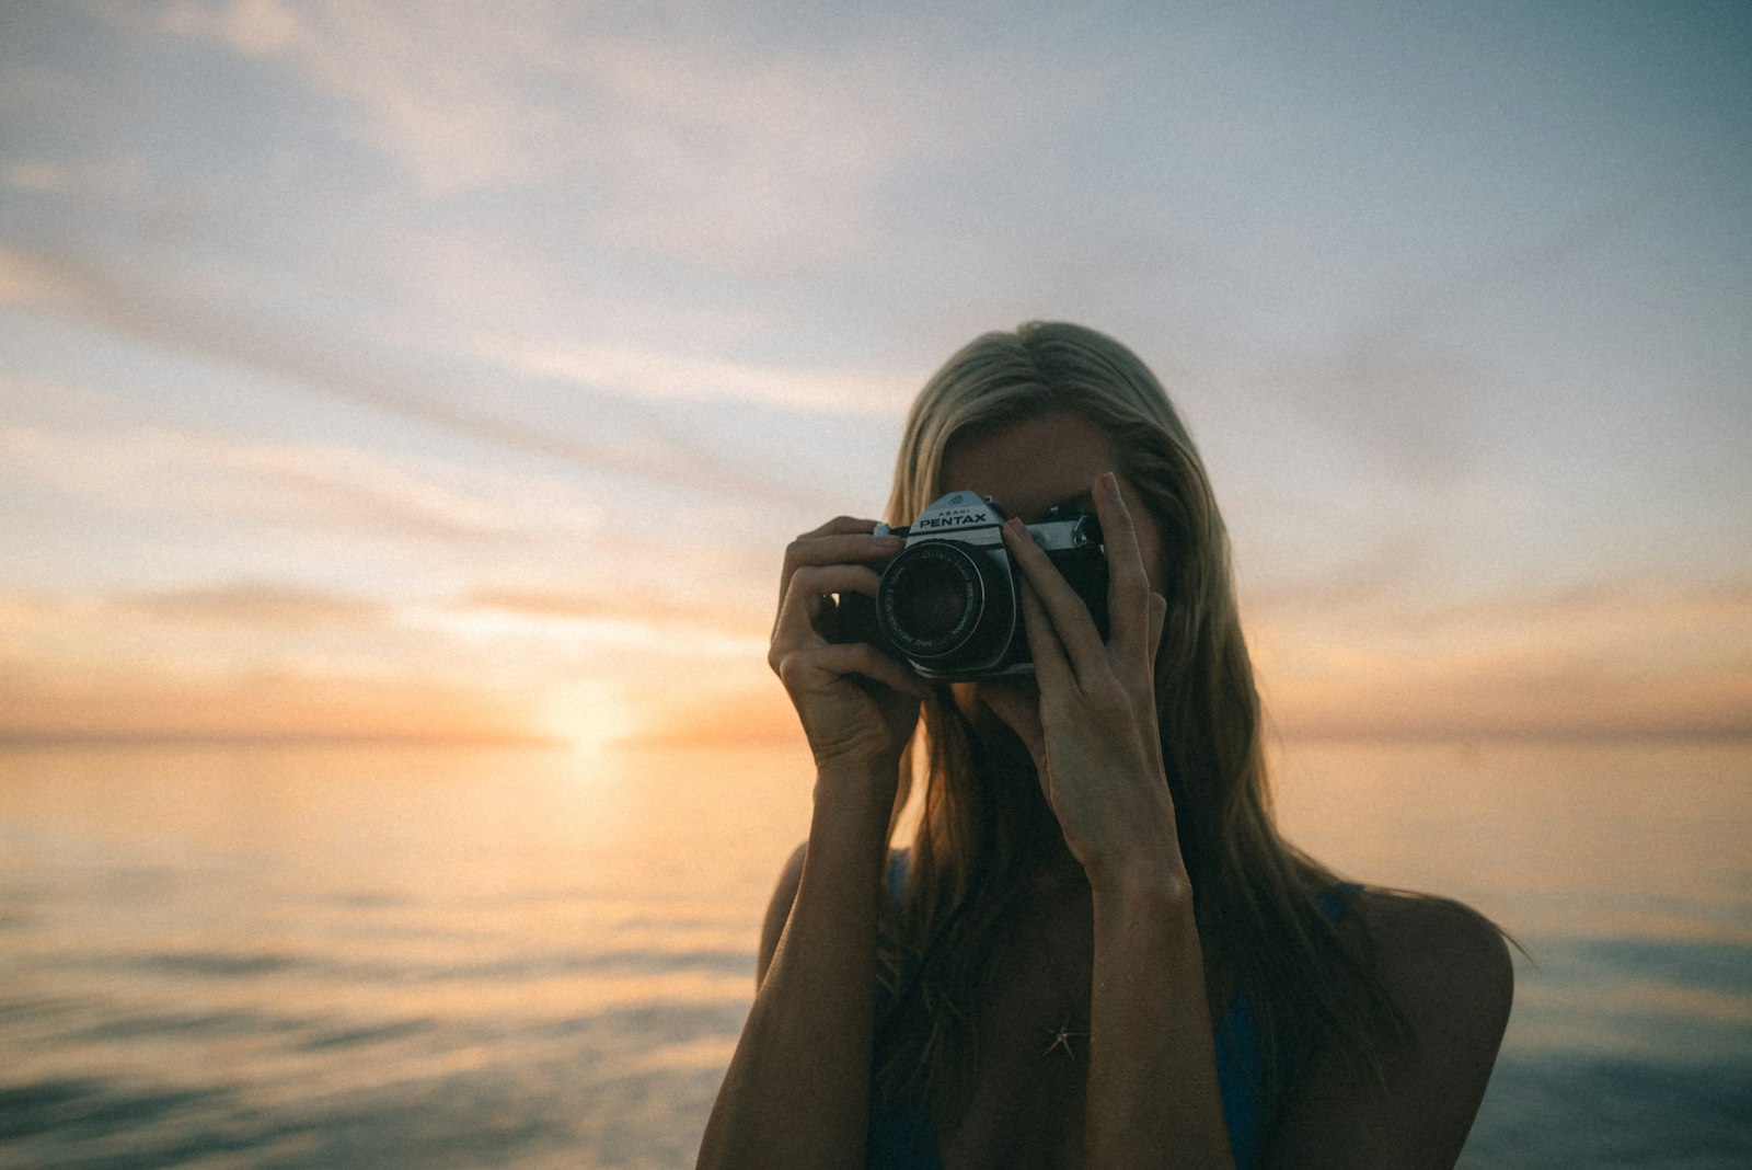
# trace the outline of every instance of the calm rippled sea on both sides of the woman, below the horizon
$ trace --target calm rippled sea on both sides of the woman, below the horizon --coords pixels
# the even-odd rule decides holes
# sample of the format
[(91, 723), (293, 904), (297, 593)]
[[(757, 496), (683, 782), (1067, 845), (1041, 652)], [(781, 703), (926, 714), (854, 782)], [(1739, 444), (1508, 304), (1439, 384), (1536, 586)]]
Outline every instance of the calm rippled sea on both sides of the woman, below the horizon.
[[(1463, 1165), (1752, 1165), (1752, 744), (1277, 764), (1531, 955)], [(795, 750), (0, 751), (0, 1165), (692, 1165), (806, 825)]]

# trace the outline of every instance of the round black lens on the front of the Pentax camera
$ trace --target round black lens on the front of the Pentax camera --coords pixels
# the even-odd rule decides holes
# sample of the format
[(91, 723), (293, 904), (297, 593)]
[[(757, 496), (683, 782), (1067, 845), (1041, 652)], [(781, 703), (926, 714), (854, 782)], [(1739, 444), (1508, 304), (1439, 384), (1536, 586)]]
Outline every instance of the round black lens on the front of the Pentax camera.
[(927, 541), (888, 562), (876, 590), (878, 620), (911, 659), (958, 664), (993, 636), (1009, 636), (1014, 604), (992, 555), (958, 541)]

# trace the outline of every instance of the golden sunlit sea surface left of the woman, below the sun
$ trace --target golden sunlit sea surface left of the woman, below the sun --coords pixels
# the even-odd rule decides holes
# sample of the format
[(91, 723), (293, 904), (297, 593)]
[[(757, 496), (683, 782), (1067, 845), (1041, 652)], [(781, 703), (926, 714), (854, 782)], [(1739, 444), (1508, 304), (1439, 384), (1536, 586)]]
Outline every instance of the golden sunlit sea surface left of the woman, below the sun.
[(808, 786), (636, 764), (0, 755), (0, 1163), (690, 1163)]

